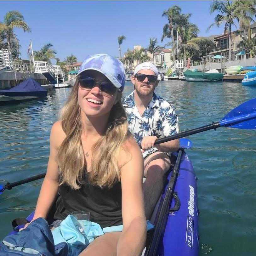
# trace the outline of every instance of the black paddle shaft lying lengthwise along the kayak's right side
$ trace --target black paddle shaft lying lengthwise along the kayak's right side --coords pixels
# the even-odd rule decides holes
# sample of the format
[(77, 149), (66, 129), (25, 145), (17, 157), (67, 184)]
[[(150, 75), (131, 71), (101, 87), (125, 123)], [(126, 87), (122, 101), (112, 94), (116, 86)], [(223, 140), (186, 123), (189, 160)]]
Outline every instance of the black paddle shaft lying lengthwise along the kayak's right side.
[(156, 226), (155, 226), (155, 229), (153, 232), (153, 237), (152, 237), (151, 243), (149, 245), (149, 248), (148, 248), (145, 256), (155, 256), (156, 255), (158, 243), (159, 243), (159, 240), (160, 240), (162, 232), (163, 232), (163, 225), (167, 221), (167, 216), (168, 216), (167, 212), (168, 212), (168, 208), (170, 205), (171, 197), (173, 195), (174, 183), (176, 181), (176, 177), (177, 177), (178, 169), (179, 169), (179, 165), (180, 165), (180, 160), (181, 160), (181, 156), (182, 156), (183, 152), (184, 152), (184, 150), (180, 148), (179, 152), (178, 152), (177, 159), (176, 159), (176, 163), (173, 168), (173, 173), (169, 180), (168, 187), (167, 187), (167, 190), (166, 190), (166, 193), (164, 196), (162, 207), (161, 207), (159, 216), (156, 221)]

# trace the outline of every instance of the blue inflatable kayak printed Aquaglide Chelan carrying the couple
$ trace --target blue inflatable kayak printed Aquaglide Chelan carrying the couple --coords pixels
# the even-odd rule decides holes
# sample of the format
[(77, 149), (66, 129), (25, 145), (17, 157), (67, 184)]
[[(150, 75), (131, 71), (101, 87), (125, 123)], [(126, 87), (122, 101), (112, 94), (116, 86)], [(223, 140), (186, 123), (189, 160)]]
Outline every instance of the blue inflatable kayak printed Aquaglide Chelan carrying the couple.
[[(148, 234), (149, 239), (142, 253), (144, 256), (167, 255), (198, 255), (198, 208), (196, 176), (193, 165), (183, 149), (172, 154), (174, 167), (166, 179), (166, 186), (159, 198), (151, 223), (155, 225), (153, 234)], [(177, 177), (175, 179), (175, 176)], [(48, 214), (48, 223), (53, 222), (56, 200)], [(33, 218), (34, 212), (26, 220)], [(14, 221), (13, 226), (19, 224)], [(16, 226), (19, 229), (24, 225)], [(11, 234), (16, 231), (12, 231)]]

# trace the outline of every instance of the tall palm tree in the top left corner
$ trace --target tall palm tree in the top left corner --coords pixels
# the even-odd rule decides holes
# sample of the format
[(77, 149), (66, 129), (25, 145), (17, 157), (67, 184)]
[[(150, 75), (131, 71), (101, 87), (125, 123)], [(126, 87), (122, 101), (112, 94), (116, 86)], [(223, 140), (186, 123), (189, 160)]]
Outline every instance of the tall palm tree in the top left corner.
[[(21, 28), (24, 32), (31, 32), (31, 28), (25, 22), (23, 15), (18, 11), (9, 11), (5, 14), (3, 22), (0, 22), (0, 34), (7, 39), (8, 49), (11, 51), (11, 41), (14, 38), (17, 43), (19, 53), (19, 40), (14, 34), (14, 28)], [(19, 55), (19, 54), (18, 54)]]

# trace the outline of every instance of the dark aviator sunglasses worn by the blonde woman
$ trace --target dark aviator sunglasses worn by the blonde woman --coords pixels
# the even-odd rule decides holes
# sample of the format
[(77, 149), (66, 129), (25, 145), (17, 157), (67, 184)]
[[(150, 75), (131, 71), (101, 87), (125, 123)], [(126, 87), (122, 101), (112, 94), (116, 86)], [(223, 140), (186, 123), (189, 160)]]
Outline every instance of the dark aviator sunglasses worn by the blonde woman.
[(111, 82), (97, 80), (92, 77), (85, 77), (85, 76), (78, 77), (78, 81), (81, 89), (88, 90), (88, 91), (94, 88), (96, 84), (99, 84), (99, 88), (102, 94), (105, 96), (108, 96), (108, 95), (113, 96), (117, 91), (117, 88)]

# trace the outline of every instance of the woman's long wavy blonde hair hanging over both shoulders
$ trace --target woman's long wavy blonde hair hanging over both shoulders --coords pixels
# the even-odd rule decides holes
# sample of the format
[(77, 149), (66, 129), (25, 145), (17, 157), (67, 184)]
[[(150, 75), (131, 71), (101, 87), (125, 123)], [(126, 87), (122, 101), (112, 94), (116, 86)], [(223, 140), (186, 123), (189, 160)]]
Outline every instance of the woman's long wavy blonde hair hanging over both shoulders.
[[(66, 138), (60, 145), (56, 159), (59, 165), (60, 185), (66, 183), (73, 189), (80, 188), (86, 171), (77, 95), (78, 79), (60, 114), (61, 126)], [(105, 134), (92, 147), (91, 171), (88, 173), (90, 184), (110, 188), (121, 180), (118, 156), (122, 144), (129, 136), (127, 117), (119, 100), (110, 111)]]

